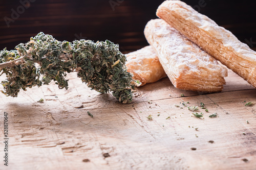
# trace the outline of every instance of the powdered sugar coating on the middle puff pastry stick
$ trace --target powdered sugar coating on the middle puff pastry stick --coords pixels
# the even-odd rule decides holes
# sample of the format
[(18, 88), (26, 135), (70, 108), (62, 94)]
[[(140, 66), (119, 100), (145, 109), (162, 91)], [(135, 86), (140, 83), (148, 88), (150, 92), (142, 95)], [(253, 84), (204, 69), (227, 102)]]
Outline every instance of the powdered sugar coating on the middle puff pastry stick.
[[(181, 35), (164, 20), (149, 21), (144, 32), (159, 55), (169, 56), (167, 58), (159, 56), (165, 72), (172, 69), (178, 76), (183, 72), (205, 75), (210, 71), (211, 74), (208, 74), (208, 77), (227, 76), (227, 69), (219, 65), (216, 59), (202, 51), (199, 46)], [(151, 42), (152, 39), (154, 41)], [(205, 72), (200, 68), (205, 68)]]

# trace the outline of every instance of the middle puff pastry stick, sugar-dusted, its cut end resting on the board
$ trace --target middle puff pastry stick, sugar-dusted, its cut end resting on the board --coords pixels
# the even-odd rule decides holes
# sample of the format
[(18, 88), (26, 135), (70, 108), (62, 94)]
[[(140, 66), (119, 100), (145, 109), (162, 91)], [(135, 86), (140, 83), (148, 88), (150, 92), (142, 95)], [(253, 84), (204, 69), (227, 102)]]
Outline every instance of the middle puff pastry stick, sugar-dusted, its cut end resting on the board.
[(144, 34), (176, 88), (207, 92), (223, 89), (227, 69), (164, 20), (149, 21)]

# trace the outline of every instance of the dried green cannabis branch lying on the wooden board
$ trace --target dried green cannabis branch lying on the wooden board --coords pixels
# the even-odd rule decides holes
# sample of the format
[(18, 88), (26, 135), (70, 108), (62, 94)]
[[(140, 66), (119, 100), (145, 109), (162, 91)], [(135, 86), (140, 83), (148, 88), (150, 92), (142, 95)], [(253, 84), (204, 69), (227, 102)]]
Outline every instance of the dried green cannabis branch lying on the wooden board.
[(118, 45), (106, 40), (58, 41), (40, 32), (16, 50), (0, 52), (0, 76), (7, 96), (16, 97), (19, 90), (56, 81), (60, 89), (68, 88), (66, 72), (77, 71), (82, 82), (101, 93), (112, 91), (122, 103), (132, 101), (136, 82), (126, 71), (126, 58)]

